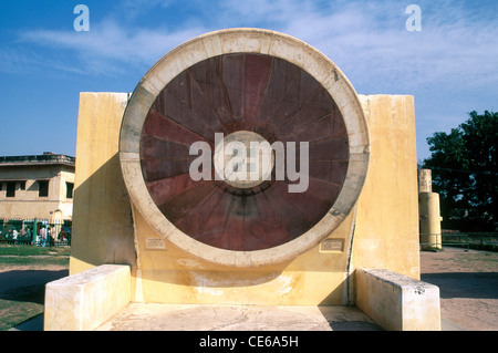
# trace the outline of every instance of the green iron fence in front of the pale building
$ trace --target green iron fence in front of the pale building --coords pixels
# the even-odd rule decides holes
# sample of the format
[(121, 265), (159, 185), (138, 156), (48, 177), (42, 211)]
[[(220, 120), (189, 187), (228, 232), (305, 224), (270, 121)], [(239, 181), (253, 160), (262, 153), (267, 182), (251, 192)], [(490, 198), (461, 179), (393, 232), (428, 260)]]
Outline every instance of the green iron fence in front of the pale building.
[(39, 219), (0, 219), (0, 243), (62, 247), (71, 246), (71, 221), (60, 224)]

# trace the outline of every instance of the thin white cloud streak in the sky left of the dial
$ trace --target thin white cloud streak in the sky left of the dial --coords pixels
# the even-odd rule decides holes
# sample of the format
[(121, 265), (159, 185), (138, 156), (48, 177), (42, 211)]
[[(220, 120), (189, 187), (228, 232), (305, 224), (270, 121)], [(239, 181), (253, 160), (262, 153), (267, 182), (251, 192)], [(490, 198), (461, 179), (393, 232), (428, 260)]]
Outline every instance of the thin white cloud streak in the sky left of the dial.
[[(19, 40), (49, 48), (52, 53), (71, 52), (76, 62), (70, 70), (80, 68), (90, 74), (113, 75), (125, 72), (129, 66), (151, 66), (174, 46), (204, 31), (197, 28), (176, 32), (160, 28), (128, 28), (108, 20), (92, 23), (89, 32), (41, 29), (25, 31)], [(63, 68), (54, 65), (52, 69)]]

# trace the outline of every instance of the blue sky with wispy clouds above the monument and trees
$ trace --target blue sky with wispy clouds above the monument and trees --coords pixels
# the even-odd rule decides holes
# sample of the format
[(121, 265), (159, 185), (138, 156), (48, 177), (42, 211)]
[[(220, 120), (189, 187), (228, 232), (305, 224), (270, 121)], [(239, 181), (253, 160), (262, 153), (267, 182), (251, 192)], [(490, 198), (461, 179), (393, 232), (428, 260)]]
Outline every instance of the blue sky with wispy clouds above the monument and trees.
[[(75, 31), (76, 4), (90, 31)], [(407, 31), (407, 6), (422, 31)], [(326, 54), (361, 94), (415, 96), (417, 157), (467, 113), (498, 111), (498, 1), (0, 1), (0, 155), (74, 156), (80, 92), (133, 92), (205, 32), (266, 28)]]

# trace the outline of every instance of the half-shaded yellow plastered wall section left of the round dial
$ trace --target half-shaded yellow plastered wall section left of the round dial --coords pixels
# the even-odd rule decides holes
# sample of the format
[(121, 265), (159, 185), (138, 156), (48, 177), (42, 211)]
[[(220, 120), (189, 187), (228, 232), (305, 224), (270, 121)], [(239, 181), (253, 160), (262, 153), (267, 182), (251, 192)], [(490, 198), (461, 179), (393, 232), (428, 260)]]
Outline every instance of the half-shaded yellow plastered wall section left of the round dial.
[(117, 156), (127, 93), (81, 93), (70, 274), (135, 263), (132, 210)]

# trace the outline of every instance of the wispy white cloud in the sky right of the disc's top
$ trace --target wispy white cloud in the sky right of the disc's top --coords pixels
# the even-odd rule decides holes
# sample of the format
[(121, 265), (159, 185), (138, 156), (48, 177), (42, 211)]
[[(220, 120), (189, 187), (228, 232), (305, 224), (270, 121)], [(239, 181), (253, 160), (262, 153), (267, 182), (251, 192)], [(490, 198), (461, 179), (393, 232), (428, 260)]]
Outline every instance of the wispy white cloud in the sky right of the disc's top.
[(352, 2), (331, 12), (286, 2), (294, 15), (282, 31), (324, 52), (367, 89), (386, 82), (402, 90), (438, 82), (468, 87), (498, 80), (496, 23), (476, 21), (465, 9), (422, 7), (423, 30), (408, 32), (402, 3)]

